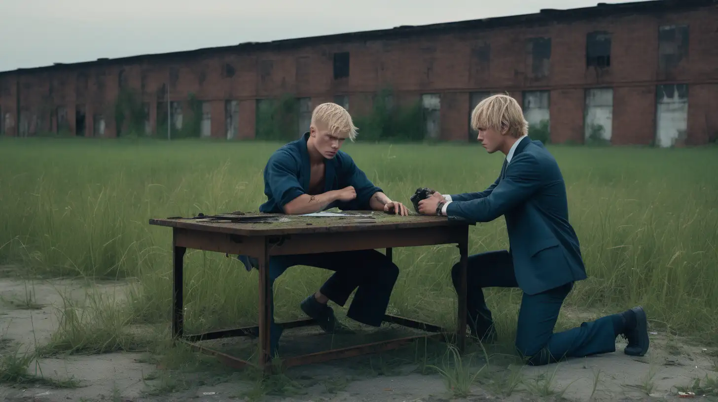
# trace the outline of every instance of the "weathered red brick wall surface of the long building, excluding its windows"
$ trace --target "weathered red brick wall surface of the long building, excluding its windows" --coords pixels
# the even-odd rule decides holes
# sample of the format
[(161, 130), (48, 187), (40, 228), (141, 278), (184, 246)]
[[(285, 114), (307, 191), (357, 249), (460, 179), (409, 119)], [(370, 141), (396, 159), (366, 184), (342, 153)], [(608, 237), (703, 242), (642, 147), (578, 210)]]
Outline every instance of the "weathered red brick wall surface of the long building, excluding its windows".
[[(681, 48), (684, 55), (675, 67), (660, 70), (658, 29), (681, 24), (689, 26)], [(587, 36), (592, 32), (610, 37), (607, 67), (587, 67)], [(286, 49), (269, 44), (4, 73), (0, 111), (15, 118), (6, 135), (19, 134), (19, 98), (23, 118), (38, 116), (50, 130), (57, 126), (51, 111), (63, 106), (68, 129), (74, 132), (80, 106), (85, 109), (85, 136), (93, 135), (94, 116), (105, 119), (105, 136), (116, 136), (121, 128), (115, 125), (114, 102), (122, 83), (149, 104), (149, 124), (156, 132), (158, 118), (164, 118), (158, 116), (157, 106), (167, 101), (169, 86), (170, 101), (187, 101), (194, 93), (211, 103), (215, 138), (226, 136), (225, 101), (238, 101), (236, 139), (251, 139), (258, 98), (291, 93), (312, 98), (316, 106), (333, 101), (335, 95), (349, 95), (350, 112), (358, 115), (370, 111), (374, 93), (391, 86), (398, 91), (399, 103), (423, 93), (441, 94), (442, 139), (466, 141), (470, 93), (508, 92), (521, 104), (524, 90), (549, 90), (551, 141), (581, 143), (585, 90), (614, 88), (612, 143), (651, 144), (656, 136), (656, 85), (687, 83), (689, 130), (684, 142), (705, 144), (718, 131), (718, 123), (709, 116), (718, 98), (715, 43), (718, 6), (354, 42), (326, 39)], [(349, 53), (348, 76), (335, 78), (335, 54), (340, 52)], [(184, 114), (190, 115), (186, 109)]]

